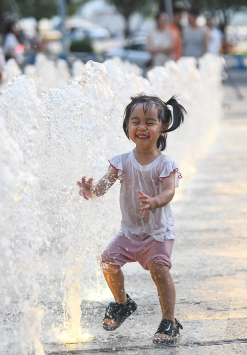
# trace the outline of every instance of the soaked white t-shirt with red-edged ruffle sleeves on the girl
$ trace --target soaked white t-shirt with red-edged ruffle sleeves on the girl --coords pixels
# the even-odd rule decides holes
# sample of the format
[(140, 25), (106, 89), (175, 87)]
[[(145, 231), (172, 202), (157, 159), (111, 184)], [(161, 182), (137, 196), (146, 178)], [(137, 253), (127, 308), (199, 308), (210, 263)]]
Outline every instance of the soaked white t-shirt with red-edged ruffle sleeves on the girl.
[(152, 163), (140, 165), (134, 157), (134, 151), (131, 151), (109, 159), (109, 162), (118, 170), (118, 179), (121, 181), (120, 232), (133, 242), (141, 242), (153, 237), (158, 241), (174, 239), (174, 220), (170, 204), (152, 209), (142, 218), (141, 205), (137, 201), (140, 196), (138, 190), (151, 197), (160, 194), (163, 178), (168, 177), (174, 170), (176, 171), (175, 186), (178, 186), (182, 175), (175, 161), (161, 154)]

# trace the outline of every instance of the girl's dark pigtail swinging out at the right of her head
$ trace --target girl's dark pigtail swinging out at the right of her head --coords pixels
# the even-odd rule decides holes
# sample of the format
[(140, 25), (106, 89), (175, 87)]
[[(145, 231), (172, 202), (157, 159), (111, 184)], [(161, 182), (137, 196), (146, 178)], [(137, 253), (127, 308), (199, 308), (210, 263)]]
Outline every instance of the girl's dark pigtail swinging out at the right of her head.
[[(165, 104), (165, 118), (167, 119), (168, 122), (172, 121), (172, 125), (166, 129), (165, 131), (162, 131), (163, 133), (166, 132), (171, 132), (177, 129), (181, 123), (184, 122), (184, 115), (186, 114), (185, 108), (180, 105), (177, 100), (176, 96), (172, 96)], [(170, 105), (173, 110), (173, 120), (172, 120), (172, 115), (170, 109), (167, 107), (167, 105)]]

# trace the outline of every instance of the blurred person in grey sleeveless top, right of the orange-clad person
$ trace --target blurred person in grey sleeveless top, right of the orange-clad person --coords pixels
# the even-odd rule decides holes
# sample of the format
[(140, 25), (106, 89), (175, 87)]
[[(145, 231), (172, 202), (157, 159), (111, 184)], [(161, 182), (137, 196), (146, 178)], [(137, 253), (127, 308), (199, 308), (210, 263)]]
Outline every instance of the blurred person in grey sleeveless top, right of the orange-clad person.
[(208, 51), (208, 29), (198, 26), (199, 10), (191, 7), (188, 11), (189, 25), (183, 30), (183, 55), (199, 58)]

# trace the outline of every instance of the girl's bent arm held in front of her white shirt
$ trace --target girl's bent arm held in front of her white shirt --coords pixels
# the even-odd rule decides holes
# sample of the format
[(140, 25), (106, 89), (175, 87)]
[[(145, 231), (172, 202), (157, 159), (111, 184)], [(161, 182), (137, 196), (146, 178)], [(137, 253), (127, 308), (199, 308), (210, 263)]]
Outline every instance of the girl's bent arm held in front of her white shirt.
[(138, 202), (139, 204), (144, 204), (141, 207), (142, 217), (145, 217), (146, 213), (154, 208), (161, 208), (169, 203), (175, 194), (175, 170), (162, 181), (162, 192), (154, 197), (145, 195), (139, 190)]

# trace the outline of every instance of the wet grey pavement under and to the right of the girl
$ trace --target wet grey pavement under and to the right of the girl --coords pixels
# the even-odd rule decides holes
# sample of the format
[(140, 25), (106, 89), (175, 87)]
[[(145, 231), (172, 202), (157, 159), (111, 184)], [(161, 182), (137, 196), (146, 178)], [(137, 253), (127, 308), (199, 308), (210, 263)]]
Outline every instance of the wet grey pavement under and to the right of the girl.
[(247, 354), (247, 71), (230, 75), (224, 80), (218, 136), (172, 205), (177, 239), (171, 274), (175, 316), (184, 327), (180, 338), (175, 344), (152, 344), (160, 305), (151, 276), (135, 263), (124, 267), (124, 274), (137, 311), (119, 329), (106, 332), (107, 304), (91, 304), (83, 322), (94, 324), (94, 338), (46, 354)]

